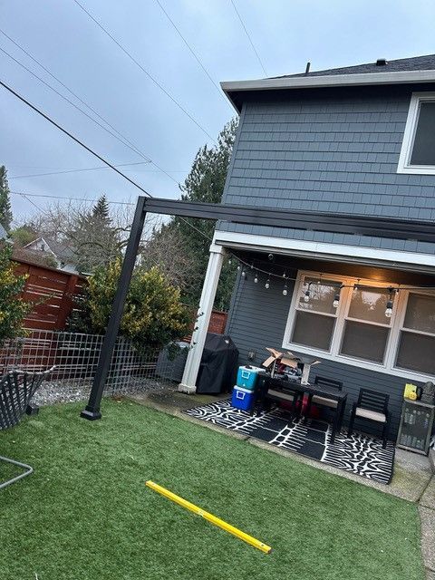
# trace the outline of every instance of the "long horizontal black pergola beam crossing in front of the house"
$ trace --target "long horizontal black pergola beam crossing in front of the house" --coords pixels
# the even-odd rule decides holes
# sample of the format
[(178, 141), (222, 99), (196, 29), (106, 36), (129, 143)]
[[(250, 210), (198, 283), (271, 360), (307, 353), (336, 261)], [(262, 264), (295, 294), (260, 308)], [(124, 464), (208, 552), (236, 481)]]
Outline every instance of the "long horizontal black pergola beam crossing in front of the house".
[(250, 224), (251, 226), (288, 227), (289, 229), (334, 234), (356, 234), (435, 243), (435, 224), (422, 220), (372, 218), (351, 214), (255, 208), (229, 204), (218, 205), (163, 198), (147, 198), (145, 202), (146, 211), (154, 214), (183, 218), (220, 219), (233, 224)]

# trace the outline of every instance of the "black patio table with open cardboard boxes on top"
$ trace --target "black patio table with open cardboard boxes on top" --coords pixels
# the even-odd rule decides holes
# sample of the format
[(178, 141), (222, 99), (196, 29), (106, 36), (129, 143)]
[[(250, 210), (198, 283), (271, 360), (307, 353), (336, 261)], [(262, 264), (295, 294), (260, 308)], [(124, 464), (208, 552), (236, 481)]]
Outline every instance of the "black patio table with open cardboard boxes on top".
[[(267, 391), (269, 390), (269, 388), (273, 388), (275, 391), (282, 392), (285, 391), (295, 391), (296, 393), (299, 392), (301, 398), (304, 396), (304, 394), (307, 394), (308, 404), (305, 411), (306, 415), (309, 415), (311, 409), (311, 401), (314, 395), (317, 395), (319, 397), (325, 397), (327, 399), (333, 399), (333, 401), (337, 401), (337, 408), (334, 412), (333, 417), (333, 430), (331, 433), (331, 442), (333, 443), (337, 431), (340, 432), (340, 430), (342, 429), (343, 414), (347, 400), (347, 392), (338, 391), (338, 389), (332, 389), (319, 384), (311, 384), (311, 383), (302, 384), (297, 380), (281, 379), (277, 377), (272, 378), (269, 376), (265, 376), (262, 377), (260, 384), (258, 386), (257, 401), (259, 402), (260, 407), (259, 411), (263, 411), (264, 409), (264, 403), (266, 401)], [(302, 412), (302, 405), (300, 409)]]

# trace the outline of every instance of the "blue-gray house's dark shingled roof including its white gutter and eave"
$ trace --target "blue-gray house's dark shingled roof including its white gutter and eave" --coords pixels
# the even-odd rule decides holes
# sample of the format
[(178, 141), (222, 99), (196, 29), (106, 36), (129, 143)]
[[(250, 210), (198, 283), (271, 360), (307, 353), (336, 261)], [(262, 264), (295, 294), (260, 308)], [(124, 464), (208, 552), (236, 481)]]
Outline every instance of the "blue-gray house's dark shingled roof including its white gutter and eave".
[(220, 85), (237, 111), (241, 111), (244, 94), (247, 92), (421, 82), (435, 82), (435, 54), (395, 61), (378, 59), (375, 63), (286, 74), (254, 81), (221, 82)]

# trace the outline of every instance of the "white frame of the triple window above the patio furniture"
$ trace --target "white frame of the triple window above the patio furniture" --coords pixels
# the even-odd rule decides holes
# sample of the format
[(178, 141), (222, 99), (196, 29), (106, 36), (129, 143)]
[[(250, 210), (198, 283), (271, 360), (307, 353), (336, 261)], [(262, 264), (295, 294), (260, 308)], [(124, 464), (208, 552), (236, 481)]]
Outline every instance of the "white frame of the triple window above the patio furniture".
[[(318, 277), (318, 272), (311, 272), (306, 270), (300, 270), (297, 273), (295, 281), (295, 290), (292, 296), (292, 302), (290, 304), (289, 313), (287, 316), (287, 322), (285, 324), (285, 333), (283, 337), (282, 348), (295, 351), (296, 353), (309, 354), (316, 358), (326, 359), (329, 361), (342, 362), (343, 364), (349, 364), (351, 366), (357, 366), (359, 368), (368, 369), (370, 371), (383, 372), (386, 374), (400, 376), (405, 379), (411, 379), (413, 381), (433, 381), (434, 377), (430, 374), (425, 374), (423, 372), (407, 371), (406, 369), (400, 369), (395, 366), (397, 351), (399, 348), (399, 340), (401, 328), (405, 318), (406, 307), (408, 304), (408, 296), (414, 292), (415, 294), (429, 294), (434, 295), (435, 293), (425, 288), (419, 290), (411, 291), (402, 289), (398, 295), (394, 297), (394, 306), (392, 310), (392, 316), (390, 319), (390, 333), (387, 339), (387, 344), (385, 347), (384, 360), (380, 362), (370, 362), (364, 361), (363, 359), (358, 359), (355, 357), (347, 356), (340, 353), (340, 348), (343, 340), (344, 324), (347, 320), (347, 314), (352, 300), (353, 285), (359, 284), (361, 286), (379, 286), (385, 289), (392, 287), (397, 287), (397, 284), (391, 282), (373, 282), (373, 280), (367, 280), (363, 278), (354, 278), (348, 275), (332, 275), (324, 273), (322, 278), (324, 280), (335, 280), (337, 283), (341, 283), (347, 287), (344, 287), (340, 293), (340, 303), (337, 308), (337, 315), (335, 318), (335, 325), (333, 329), (333, 337), (331, 340), (331, 348), (329, 351), (324, 351), (318, 348), (313, 348), (310, 346), (305, 346), (304, 344), (292, 343), (289, 338), (293, 332), (293, 326), (295, 324), (295, 315), (297, 312), (297, 304), (301, 293), (304, 289), (304, 278), (305, 277)], [(307, 312), (307, 311), (304, 311)], [(363, 324), (371, 324), (370, 322), (352, 318), (356, 322), (362, 322)], [(375, 325), (382, 325), (376, 324)], [(388, 324), (385, 324), (387, 326)], [(429, 333), (430, 334), (430, 333)], [(431, 334), (430, 334), (431, 335)]]

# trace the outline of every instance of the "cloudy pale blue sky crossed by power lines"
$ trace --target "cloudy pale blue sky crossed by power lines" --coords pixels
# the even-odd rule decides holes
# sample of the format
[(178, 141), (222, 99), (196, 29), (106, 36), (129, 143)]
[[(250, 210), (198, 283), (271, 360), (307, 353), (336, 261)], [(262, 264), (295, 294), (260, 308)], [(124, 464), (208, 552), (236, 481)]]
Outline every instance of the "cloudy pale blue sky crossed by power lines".
[[(3, 0), (0, 48), (106, 129), (119, 131), (132, 148), (103, 131), (4, 52), (0, 52), (0, 78), (107, 160), (128, 164), (120, 169), (158, 197), (179, 196), (177, 184), (189, 172), (198, 148), (213, 145), (235, 114), (218, 90), (218, 82), (264, 77), (263, 67), (267, 76), (299, 73), (307, 61), (312, 70), (319, 70), (380, 57), (392, 60), (435, 53), (435, 3), (431, 0), (233, 0), (234, 5), (231, 0), (80, 2), (142, 70), (74, 0)], [(3, 87), (0, 115), (0, 164), (8, 169), (12, 191), (88, 199), (105, 192), (118, 201), (137, 197), (138, 190), (111, 169), (36, 177), (102, 164)], [(50, 203), (50, 198), (26, 199), (16, 194), (12, 199), (17, 217)]]

